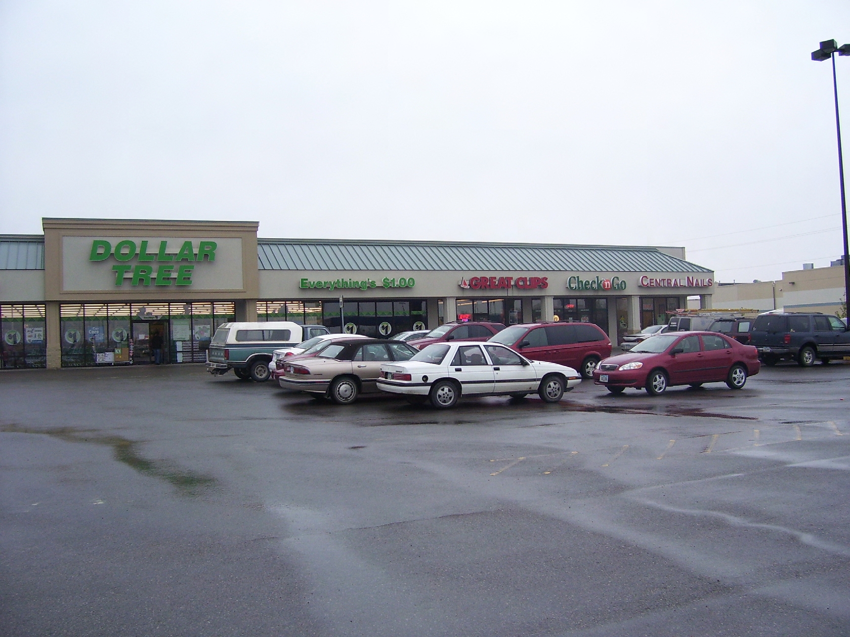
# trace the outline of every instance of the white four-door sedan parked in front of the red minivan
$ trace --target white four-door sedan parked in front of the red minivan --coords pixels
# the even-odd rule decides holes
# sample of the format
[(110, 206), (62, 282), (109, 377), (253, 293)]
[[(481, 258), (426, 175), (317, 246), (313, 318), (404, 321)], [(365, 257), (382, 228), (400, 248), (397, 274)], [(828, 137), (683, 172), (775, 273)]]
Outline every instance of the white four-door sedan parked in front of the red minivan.
[(461, 396), (524, 397), (536, 393), (557, 403), (581, 383), (566, 365), (533, 361), (496, 343), (433, 343), (403, 363), (381, 365), (377, 388), (402, 394), (411, 404), (430, 400), (454, 407)]

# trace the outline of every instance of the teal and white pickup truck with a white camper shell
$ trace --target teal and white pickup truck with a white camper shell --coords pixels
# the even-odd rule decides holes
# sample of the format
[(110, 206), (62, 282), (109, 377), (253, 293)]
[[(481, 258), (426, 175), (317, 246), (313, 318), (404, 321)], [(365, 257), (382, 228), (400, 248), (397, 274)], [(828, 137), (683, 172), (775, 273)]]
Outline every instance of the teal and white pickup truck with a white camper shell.
[(296, 347), (322, 334), (328, 334), (324, 325), (299, 325), (290, 321), (225, 323), (215, 330), (210, 341), (207, 371), (222, 375), (233, 369), (243, 381), (268, 381), (269, 363), (276, 349)]

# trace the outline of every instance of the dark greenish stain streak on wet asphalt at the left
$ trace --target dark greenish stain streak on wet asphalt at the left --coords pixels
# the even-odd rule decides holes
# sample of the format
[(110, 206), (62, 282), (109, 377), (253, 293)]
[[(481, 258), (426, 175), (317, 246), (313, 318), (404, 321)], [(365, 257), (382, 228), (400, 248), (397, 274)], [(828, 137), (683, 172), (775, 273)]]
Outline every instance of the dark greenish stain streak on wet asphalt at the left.
[(139, 454), (139, 442), (127, 440), (121, 436), (103, 436), (92, 430), (74, 429), (72, 427), (55, 427), (53, 429), (37, 429), (17, 425), (0, 426), (5, 433), (29, 433), (50, 436), (64, 440), (66, 443), (101, 444), (112, 448), (112, 454), (118, 462), (145, 476), (159, 478), (177, 488), (183, 495), (197, 496), (206, 488), (215, 484), (215, 478), (203, 476), (195, 471), (183, 471), (163, 460), (150, 460)]

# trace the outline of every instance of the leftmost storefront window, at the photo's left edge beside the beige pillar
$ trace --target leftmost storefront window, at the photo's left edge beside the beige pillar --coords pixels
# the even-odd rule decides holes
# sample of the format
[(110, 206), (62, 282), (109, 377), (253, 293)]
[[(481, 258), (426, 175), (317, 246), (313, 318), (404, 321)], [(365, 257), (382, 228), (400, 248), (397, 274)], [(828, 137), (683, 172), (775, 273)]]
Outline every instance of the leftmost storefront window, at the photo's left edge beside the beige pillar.
[(0, 367), (47, 366), (43, 305), (0, 306)]

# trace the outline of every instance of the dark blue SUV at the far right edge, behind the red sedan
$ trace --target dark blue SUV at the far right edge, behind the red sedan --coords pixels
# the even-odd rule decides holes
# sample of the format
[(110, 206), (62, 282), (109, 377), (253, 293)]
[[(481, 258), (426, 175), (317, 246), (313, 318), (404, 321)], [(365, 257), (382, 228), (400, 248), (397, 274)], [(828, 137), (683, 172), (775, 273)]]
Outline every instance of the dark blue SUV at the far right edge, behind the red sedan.
[(762, 314), (752, 326), (750, 345), (766, 365), (796, 360), (802, 367), (811, 367), (818, 358), (826, 364), (832, 358), (850, 356), (850, 329), (828, 314)]

